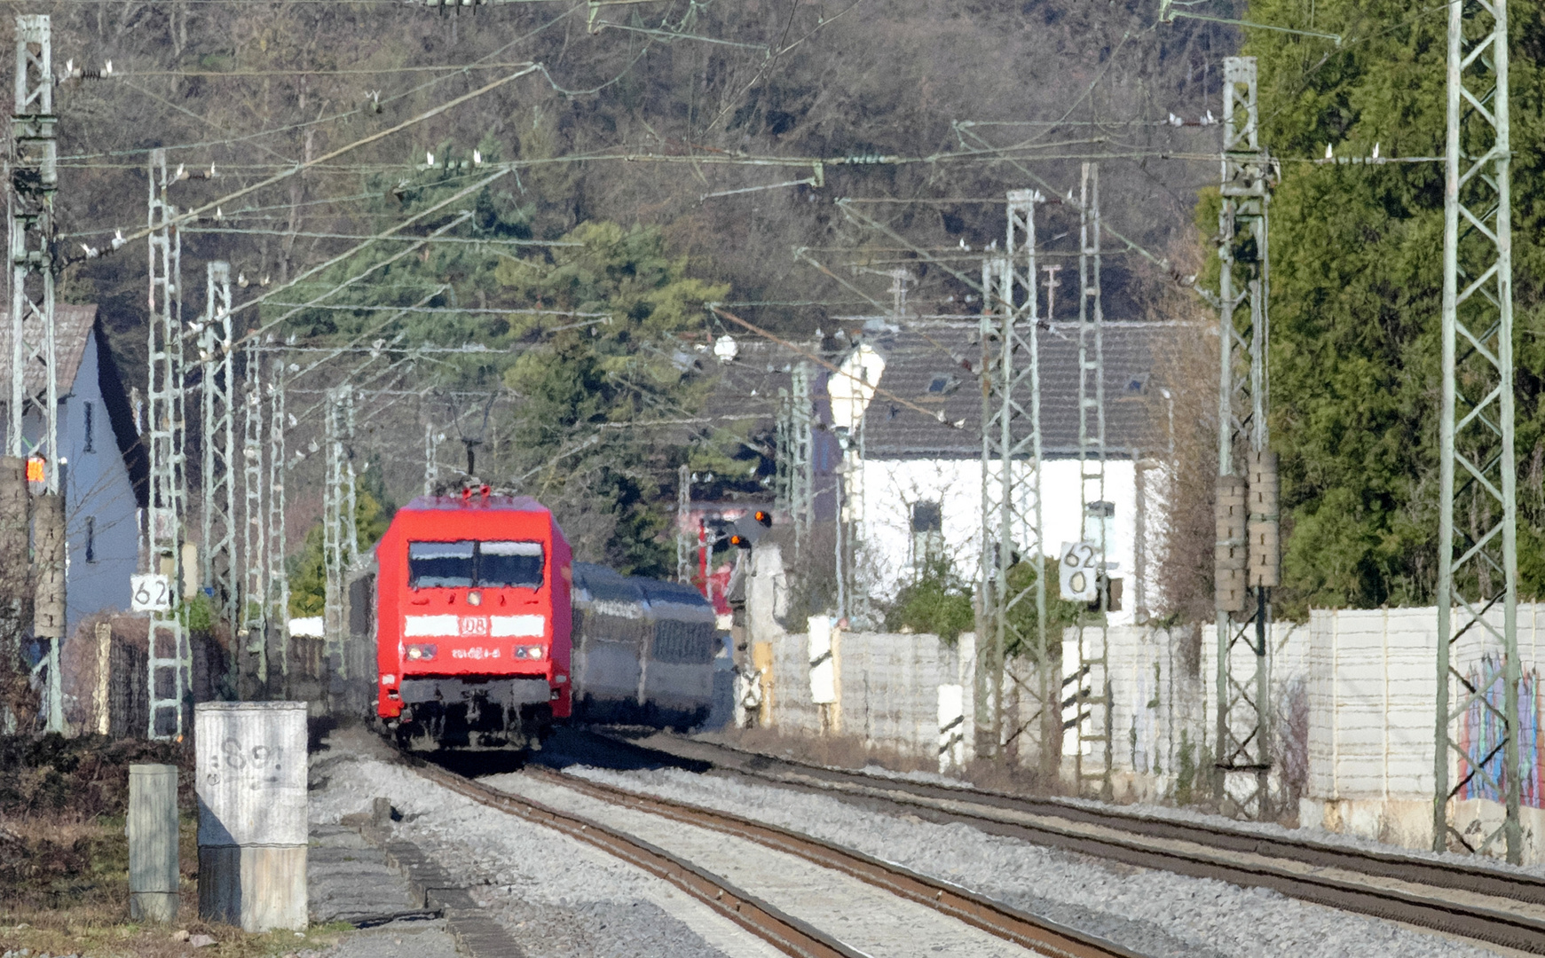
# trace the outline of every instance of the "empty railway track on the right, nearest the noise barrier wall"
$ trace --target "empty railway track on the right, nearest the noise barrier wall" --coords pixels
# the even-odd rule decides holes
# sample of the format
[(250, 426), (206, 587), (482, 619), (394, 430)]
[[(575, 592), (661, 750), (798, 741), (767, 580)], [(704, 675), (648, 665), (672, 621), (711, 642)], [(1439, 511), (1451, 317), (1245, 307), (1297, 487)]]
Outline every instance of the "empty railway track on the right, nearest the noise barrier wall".
[[(610, 737), (610, 735), (609, 735)], [(1545, 879), (1200, 822), (805, 765), (677, 735), (610, 737), (675, 760), (901, 807), (936, 822), (1236, 885), (1545, 955)]]

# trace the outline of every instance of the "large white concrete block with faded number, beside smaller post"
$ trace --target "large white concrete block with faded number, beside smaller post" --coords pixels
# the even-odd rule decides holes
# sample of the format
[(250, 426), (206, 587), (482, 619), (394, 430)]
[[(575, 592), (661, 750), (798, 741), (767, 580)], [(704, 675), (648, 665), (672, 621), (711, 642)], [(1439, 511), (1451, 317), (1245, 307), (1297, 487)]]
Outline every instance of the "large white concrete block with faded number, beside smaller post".
[(306, 927), (306, 703), (193, 706), (199, 916)]

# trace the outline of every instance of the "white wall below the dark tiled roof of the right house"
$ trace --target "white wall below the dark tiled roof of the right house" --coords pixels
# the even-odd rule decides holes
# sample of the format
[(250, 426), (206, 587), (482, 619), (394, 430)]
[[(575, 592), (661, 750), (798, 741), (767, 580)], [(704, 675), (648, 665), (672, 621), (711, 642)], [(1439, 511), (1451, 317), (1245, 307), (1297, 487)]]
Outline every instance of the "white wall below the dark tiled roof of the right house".
[[(993, 464), (997, 473), (997, 464)], [(938, 502), (946, 553), (955, 572), (975, 581), (981, 561), (981, 462), (976, 459), (868, 459), (850, 482), (862, 484), (864, 569), (871, 576), (873, 593), (891, 598), (913, 569), (912, 507)], [(1112, 541), (1108, 556), (1111, 576), (1123, 581), (1122, 610), (1111, 613), (1111, 624), (1132, 623), (1137, 589), (1136, 518), (1137, 487), (1132, 462), (1114, 459), (1105, 467), (1105, 499), (1115, 504)], [(1021, 505), (1029, 507), (1026, 499)], [(1060, 555), (1063, 542), (1080, 538), (1078, 460), (1054, 459), (1044, 464), (1041, 479), (1041, 522), (1048, 555)], [(1149, 528), (1156, 524), (1149, 518)], [(1018, 542), (1029, 541), (1017, 530)], [(1151, 566), (1151, 562), (1149, 562)], [(1151, 593), (1151, 592), (1149, 592)]]

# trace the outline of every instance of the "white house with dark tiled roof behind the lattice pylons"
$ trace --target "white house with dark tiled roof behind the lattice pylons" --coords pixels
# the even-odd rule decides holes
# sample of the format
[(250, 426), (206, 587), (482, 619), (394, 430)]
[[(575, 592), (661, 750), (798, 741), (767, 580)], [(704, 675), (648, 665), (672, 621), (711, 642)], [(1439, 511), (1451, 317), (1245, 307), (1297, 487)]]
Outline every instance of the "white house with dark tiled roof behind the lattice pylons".
[[(1112, 596), (1120, 592), (1120, 607), (1112, 609), (1111, 623), (1128, 624), (1156, 598), (1148, 575), (1163, 530), (1159, 521), (1163, 502), (1157, 464), (1145, 456), (1162, 453), (1171, 440), (1168, 419), (1154, 416), (1156, 408), (1162, 409), (1156, 402), (1163, 400), (1151, 391), (1154, 383), (1149, 380), (1154, 354), (1173, 335), (1173, 328), (1105, 324), (1105, 477), (1103, 484), (1086, 479), (1083, 501), (1106, 505), (1089, 510), (1088, 525), (1080, 508), (1077, 335), (1075, 324), (1063, 323), (1038, 332), (1044, 552), (1058, 555), (1063, 544), (1083, 536), (1098, 539), (1103, 522)], [(833, 426), (854, 434), (845, 502), (861, 524), (861, 564), (879, 596), (895, 595), (932, 550), (949, 556), (964, 579), (978, 576), (983, 396), (976, 371), (981, 362), (975, 320), (924, 318), (904, 328), (868, 320), (840, 363), (845, 375), (833, 374), (827, 380)], [(1092, 411), (1088, 428), (1092, 434)], [(862, 433), (862, 443), (856, 440), (857, 433)], [(1017, 437), (1021, 433), (1017, 431)], [(993, 484), (998, 468), (995, 460), (989, 464)], [(1089, 464), (1085, 474), (1089, 473), (1098, 470)], [(1017, 504), (1021, 515), (1031, 510), (1029, 496)], [(1020, 549), (1034, 536), (1018, 524), (1014, 539), (1014, 547)]]

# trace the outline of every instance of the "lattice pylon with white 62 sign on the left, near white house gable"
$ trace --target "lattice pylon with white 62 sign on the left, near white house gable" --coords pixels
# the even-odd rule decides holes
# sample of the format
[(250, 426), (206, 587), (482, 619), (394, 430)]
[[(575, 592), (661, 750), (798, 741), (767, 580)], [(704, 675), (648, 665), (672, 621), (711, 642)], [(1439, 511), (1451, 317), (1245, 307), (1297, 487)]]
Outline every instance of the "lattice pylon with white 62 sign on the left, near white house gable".
[[(151, 739), (182, 734), (184, 695), (188, 689), (188, 644), (182, 630), (182, 518), (185, 515), (182, 413), (182, 238), (167, 201), (167, 151), (150, 155), (150, 371), (147, 377), (147, 434), (150, 437), (150, 515), (145, 556), (150, 572), (167, 576), (168, 607), (150, 613)], [(170, 712), (170, 714), (168, 714)]]

